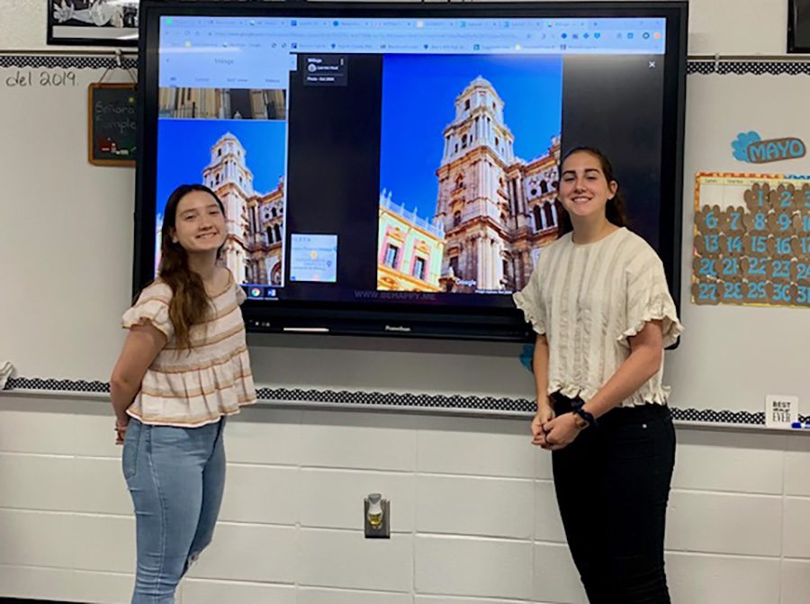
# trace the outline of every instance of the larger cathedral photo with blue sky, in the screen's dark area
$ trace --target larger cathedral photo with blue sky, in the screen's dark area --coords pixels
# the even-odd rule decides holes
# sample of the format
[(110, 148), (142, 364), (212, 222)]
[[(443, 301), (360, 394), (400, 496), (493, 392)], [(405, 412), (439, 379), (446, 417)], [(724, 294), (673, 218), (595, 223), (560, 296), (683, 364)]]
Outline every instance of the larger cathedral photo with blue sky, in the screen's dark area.
[[(385, 60), (377, 288), (521, 289), (540, 249), (557, 236), (559, 61)], [(437, 77), (424, 76), (426, 61)], [(487, 71), (496, 77), (483, 77)], [(449, 107), (436, 104), (437, 97), (452, 98)], [(448, 110), (452, 120), (441, 122)], [(424, 152), (398, 151), (414, 143)]]

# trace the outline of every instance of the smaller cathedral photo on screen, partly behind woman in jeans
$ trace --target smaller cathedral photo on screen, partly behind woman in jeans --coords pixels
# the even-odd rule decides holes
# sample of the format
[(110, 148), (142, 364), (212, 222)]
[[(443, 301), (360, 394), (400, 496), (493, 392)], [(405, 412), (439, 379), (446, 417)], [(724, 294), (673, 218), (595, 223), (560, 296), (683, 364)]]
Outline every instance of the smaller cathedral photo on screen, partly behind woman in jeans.
[(156, 271), (169, 194), (202, 183), (225, 206), (222, 256), (238, 283), (283, 284), (286, 130), (282, 120), (159, 120)]

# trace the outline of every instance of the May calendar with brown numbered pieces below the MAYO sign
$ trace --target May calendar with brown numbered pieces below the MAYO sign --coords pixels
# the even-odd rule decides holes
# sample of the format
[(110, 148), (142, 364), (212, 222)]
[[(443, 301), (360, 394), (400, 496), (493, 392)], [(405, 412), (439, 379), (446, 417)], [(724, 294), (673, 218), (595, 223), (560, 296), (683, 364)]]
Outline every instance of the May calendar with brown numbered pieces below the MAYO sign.
[(701, 173), (692, 302), (810, 308), (810, 176)]

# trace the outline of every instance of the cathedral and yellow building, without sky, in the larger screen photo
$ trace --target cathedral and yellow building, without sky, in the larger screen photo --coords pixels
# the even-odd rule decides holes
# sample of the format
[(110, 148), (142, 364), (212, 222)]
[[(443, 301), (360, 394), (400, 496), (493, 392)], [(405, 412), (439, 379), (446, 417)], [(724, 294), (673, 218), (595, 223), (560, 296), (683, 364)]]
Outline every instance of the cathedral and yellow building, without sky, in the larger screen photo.
[(473, 293), (528, 283), (540, 248), (557, 237), (560, 139), (541, 157), (518, 158), (503, 107), (480, 76), (456, 97), (431, 221), (383, 191), (378, 289)]

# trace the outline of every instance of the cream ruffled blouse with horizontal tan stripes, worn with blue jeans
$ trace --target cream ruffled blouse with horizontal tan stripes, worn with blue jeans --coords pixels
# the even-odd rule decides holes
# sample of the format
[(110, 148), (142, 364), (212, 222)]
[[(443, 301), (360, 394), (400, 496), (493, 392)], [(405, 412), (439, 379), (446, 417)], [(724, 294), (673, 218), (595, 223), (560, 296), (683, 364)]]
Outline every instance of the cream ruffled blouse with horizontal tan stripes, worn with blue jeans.
[(168, 314), (171, 299), (171, 288), (156, 281), (123, 315), (125, 329), (148, 321), (168, 338), (127, 413), (145, 424), (196, 428), (256, 402), (239, 308), (245, 293), (232, 275), (225, 290), (211, 298), (210, 320), (192, 327), (190, 350), (178, 349)]

